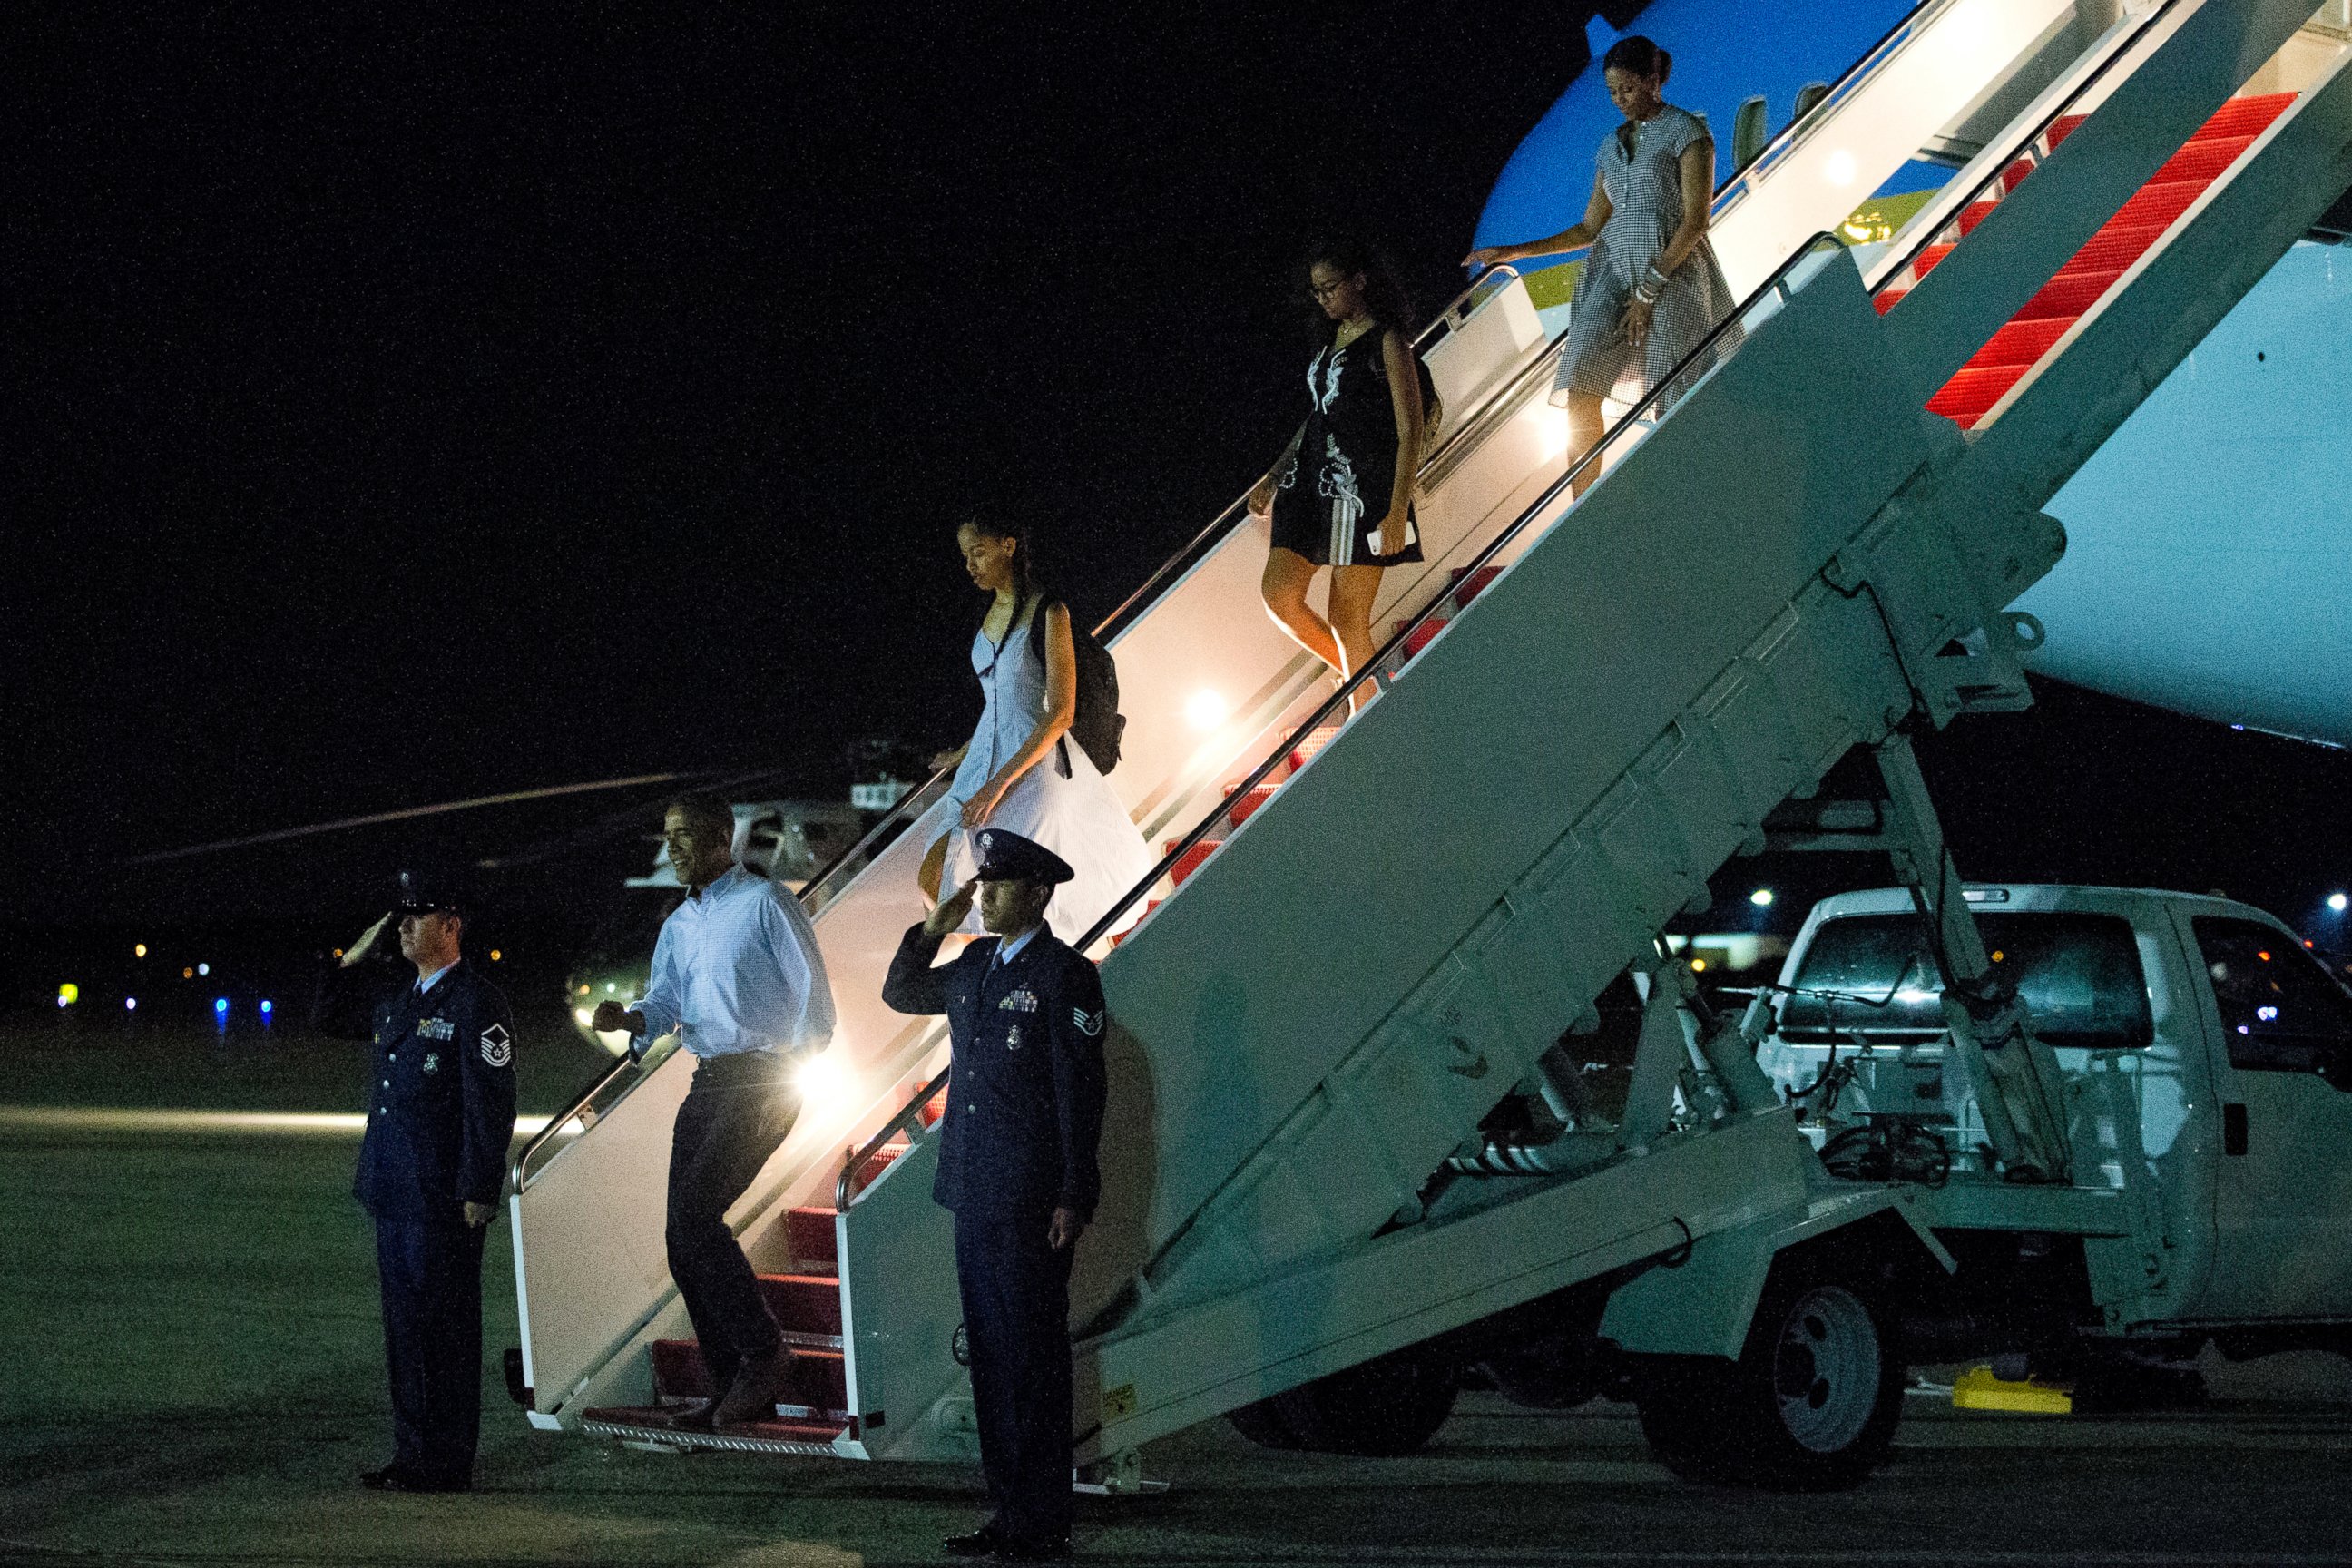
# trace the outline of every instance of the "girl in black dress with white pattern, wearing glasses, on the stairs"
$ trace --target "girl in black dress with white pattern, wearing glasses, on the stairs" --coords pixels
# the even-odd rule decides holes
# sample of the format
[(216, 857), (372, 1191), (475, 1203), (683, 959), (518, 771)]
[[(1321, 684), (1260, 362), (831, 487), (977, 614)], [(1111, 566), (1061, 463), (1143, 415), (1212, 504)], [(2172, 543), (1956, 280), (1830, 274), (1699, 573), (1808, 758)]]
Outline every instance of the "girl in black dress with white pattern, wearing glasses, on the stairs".
[[(1265, 609), (1345, 679), (1371, 658), (1381, 569), (1421, 559), (1414, 475), (1428, 371), (1414, 355), (1404, 289), (1378, 256), (1327, 244), (1308, 287), (1329, 322), (1308, 362), (1308, 421), (1249, 491), (1249, 510), (1272, 520)], [(1329, 621), (1308, 607), (1317, 567), (1331, 569)]]

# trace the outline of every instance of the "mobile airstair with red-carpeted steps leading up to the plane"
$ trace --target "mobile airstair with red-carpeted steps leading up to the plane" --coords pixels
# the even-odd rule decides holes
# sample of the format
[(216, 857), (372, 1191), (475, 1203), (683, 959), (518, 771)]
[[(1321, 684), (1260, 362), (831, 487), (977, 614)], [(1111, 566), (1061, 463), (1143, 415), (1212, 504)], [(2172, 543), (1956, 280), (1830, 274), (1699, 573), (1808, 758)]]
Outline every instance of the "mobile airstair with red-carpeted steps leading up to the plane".
[[(1743, 174), (1726, 228), (1745, 209), (1750, 233), (1816, 237), (1726, 256), (1738, 348), (1672, 409), (1621, 418), (1581, 498), (1524, 287), (1449, 313), (1428, 348), (1456, 409), (1428, 465), (1430, 564), (1390, 574), (1404, 621), (1362, 712), (1265, 625), (1263, 534), (1237, 510), (1115, 618), (1112, 780), (1169, 856), (1134, 891), (1150, 912), (1103, 943), (1077, 1462), (1129, 1474), (1160, 1434), (1818, 1208), (1736, 1030), (1675, 1032), (1689, 971), (1661, 929), (1853, 745), (2027, 701), (2037, 628), (2004, 607), (2063, 555), (2039, 508), (2352, 183), (2352, 68), (2307, 5), (2166, 0), (2058, 63), (1891, 249), (1835, 242), (1853, 190), (1823, 158), (1872, 188), (1924, 141), (1922, 61), (1976, 73), (1938, 87), (1940, 122), (2046, 59), (2053, 9), (1919, 7)], [(807, 1352), (776, 1422), (663, 1415), (703, 1392), (661, 1265), (680, 1060), (616, 1072), (517, 1166), (534, 1422), (974, 1453), (929, 1201), (943, 1037), (875, 999), (920, 919), (936, 792), (809, 891), (842, 1025), (731, 1215)], [(1628, 971), (1651, 1016), (1625, 1105), (1552, 1168), (1463, 1178), (1482, 1119)], [(2009, 1112), (2004, 1157), (2060, 1173), (2046, 1088), (2009, 1072), (1978, 1086)]]

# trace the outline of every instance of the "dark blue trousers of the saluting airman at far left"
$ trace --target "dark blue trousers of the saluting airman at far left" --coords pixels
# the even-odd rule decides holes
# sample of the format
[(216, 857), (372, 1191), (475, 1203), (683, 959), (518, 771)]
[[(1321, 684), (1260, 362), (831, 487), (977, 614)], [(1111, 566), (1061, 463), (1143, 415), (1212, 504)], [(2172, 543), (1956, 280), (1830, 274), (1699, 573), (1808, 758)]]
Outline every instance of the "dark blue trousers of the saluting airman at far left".
[(466, 1483), (482, 1436), (482, 1232), (456, 1220), (376, 1218), (393, 1465)]

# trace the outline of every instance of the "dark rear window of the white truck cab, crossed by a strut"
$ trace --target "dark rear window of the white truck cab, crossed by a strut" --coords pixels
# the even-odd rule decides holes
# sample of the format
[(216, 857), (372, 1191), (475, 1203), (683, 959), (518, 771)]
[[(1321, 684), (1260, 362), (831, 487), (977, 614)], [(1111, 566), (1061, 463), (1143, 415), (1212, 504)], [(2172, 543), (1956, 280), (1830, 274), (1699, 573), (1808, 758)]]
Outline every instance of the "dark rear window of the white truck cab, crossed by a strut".
[[(2147, 976), (2119, 914), (1976, 912), (1985, 950), (2051, 1046), (2129, 1051), (2154, 1039)], [(1823, 922), (1780, 999), (1780, 1037), (1825, 1044), (1924, 1044), (1943, 1034), (1943, 978), (1915, 914)]]

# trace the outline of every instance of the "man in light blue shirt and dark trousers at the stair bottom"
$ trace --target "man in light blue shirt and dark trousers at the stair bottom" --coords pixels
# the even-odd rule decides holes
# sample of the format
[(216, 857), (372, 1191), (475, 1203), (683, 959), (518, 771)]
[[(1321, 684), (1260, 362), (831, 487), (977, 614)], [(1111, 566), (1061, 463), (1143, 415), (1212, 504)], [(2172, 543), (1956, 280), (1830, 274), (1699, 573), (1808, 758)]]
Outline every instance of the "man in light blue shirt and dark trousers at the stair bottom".
[(720, 1396), (680, 1425), (734, 1427), (774, 1418), (793, 1354), (727, 1229), (727, 1208), (793, 1131), (793, 1067), (833, 1039), (833, 987), (800, 900), (734, 863), (727, 799), (682, 795), (663, 811), (661, 837), (687, 900), (661, 926), (644, 999), (597, 1006), (595, 1027), (628, 1030), (640, 1058), (677, 1030), (696, 1058), (670, 1133), (663, 1239)]

